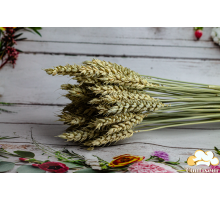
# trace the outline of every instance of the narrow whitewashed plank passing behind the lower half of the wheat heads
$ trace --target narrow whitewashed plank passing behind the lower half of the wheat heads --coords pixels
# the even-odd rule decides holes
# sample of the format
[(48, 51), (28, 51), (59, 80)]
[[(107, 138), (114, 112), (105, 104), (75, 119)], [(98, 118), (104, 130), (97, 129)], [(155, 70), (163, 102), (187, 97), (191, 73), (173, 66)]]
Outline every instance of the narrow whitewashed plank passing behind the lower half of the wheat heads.
[[(65, 131), (68, 126), (64, 126), (63, 122), (58, 121), (57, 115), (60, 114), (64, 106), (46, 106), (46, 105), (14, 105), (1, 106), (15, 113), (0, 114), (0, 126), (2, 124), (19, 124), (19, 125), (54, 125), (61, 126), (60, 133)], [(198, 130), (218, 130), (220, 123), (200, 124), (192, 126), (174, 127), (172, 129), (198, 129)], [(162, 130), (163, 131), (163, 130)]]

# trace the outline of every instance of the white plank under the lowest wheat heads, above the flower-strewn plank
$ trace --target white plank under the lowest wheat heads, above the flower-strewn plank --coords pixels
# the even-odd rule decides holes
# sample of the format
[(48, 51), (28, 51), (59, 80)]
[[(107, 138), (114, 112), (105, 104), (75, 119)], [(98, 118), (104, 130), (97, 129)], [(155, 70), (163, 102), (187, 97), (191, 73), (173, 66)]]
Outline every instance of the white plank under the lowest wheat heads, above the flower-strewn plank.
[[(77, 146), (78, 144), (66, 142), (55, 137), (64, 132), (64, 125), (38, 125), (38, 124), (1, 124), (1, 136), (15, 136), (20, 138), (10, 139), (9, 143), (31, 144), (31, 129), (33, 137), (42, 144)], [(131, 138), (119, 141), (114, 146), (123, 146), (125, 144), (152, 144), (175, 148), (202, 148), (211, 149), (213, 146), (220, 146), (219, 130), (191, 130), (191, 129), (163, 129), (149, 132), (135, 133)], [(100, 151), (105, 148), (97, 148)], [(114, 149), (114, 148), (113, 148)]]

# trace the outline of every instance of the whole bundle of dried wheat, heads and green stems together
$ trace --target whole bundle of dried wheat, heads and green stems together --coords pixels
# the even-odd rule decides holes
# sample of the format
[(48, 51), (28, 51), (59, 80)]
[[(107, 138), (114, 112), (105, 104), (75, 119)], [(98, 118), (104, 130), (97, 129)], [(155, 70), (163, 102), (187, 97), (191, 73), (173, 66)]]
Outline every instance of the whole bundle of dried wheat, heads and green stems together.
[(45, 71), (77, 80), (61, 85), (71, 103), (58, 115), (69, 125), (59, 137), (90, 149), (135, 131), (220, 121), (220, 86), (141, 76), (98, 59)]

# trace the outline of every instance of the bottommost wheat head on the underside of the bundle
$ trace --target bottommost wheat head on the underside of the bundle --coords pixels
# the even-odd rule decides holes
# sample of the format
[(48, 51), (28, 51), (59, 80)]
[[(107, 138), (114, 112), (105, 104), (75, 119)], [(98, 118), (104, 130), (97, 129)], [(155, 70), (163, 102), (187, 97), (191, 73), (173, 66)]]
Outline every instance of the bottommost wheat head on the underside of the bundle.
[(109, 135), (102, 135), (94, 140), (89, 140), (84, 143), (85, 146), (101, 146), (107, 143), (117, 142), (133, 135), (132, 130), (124, 130)]

